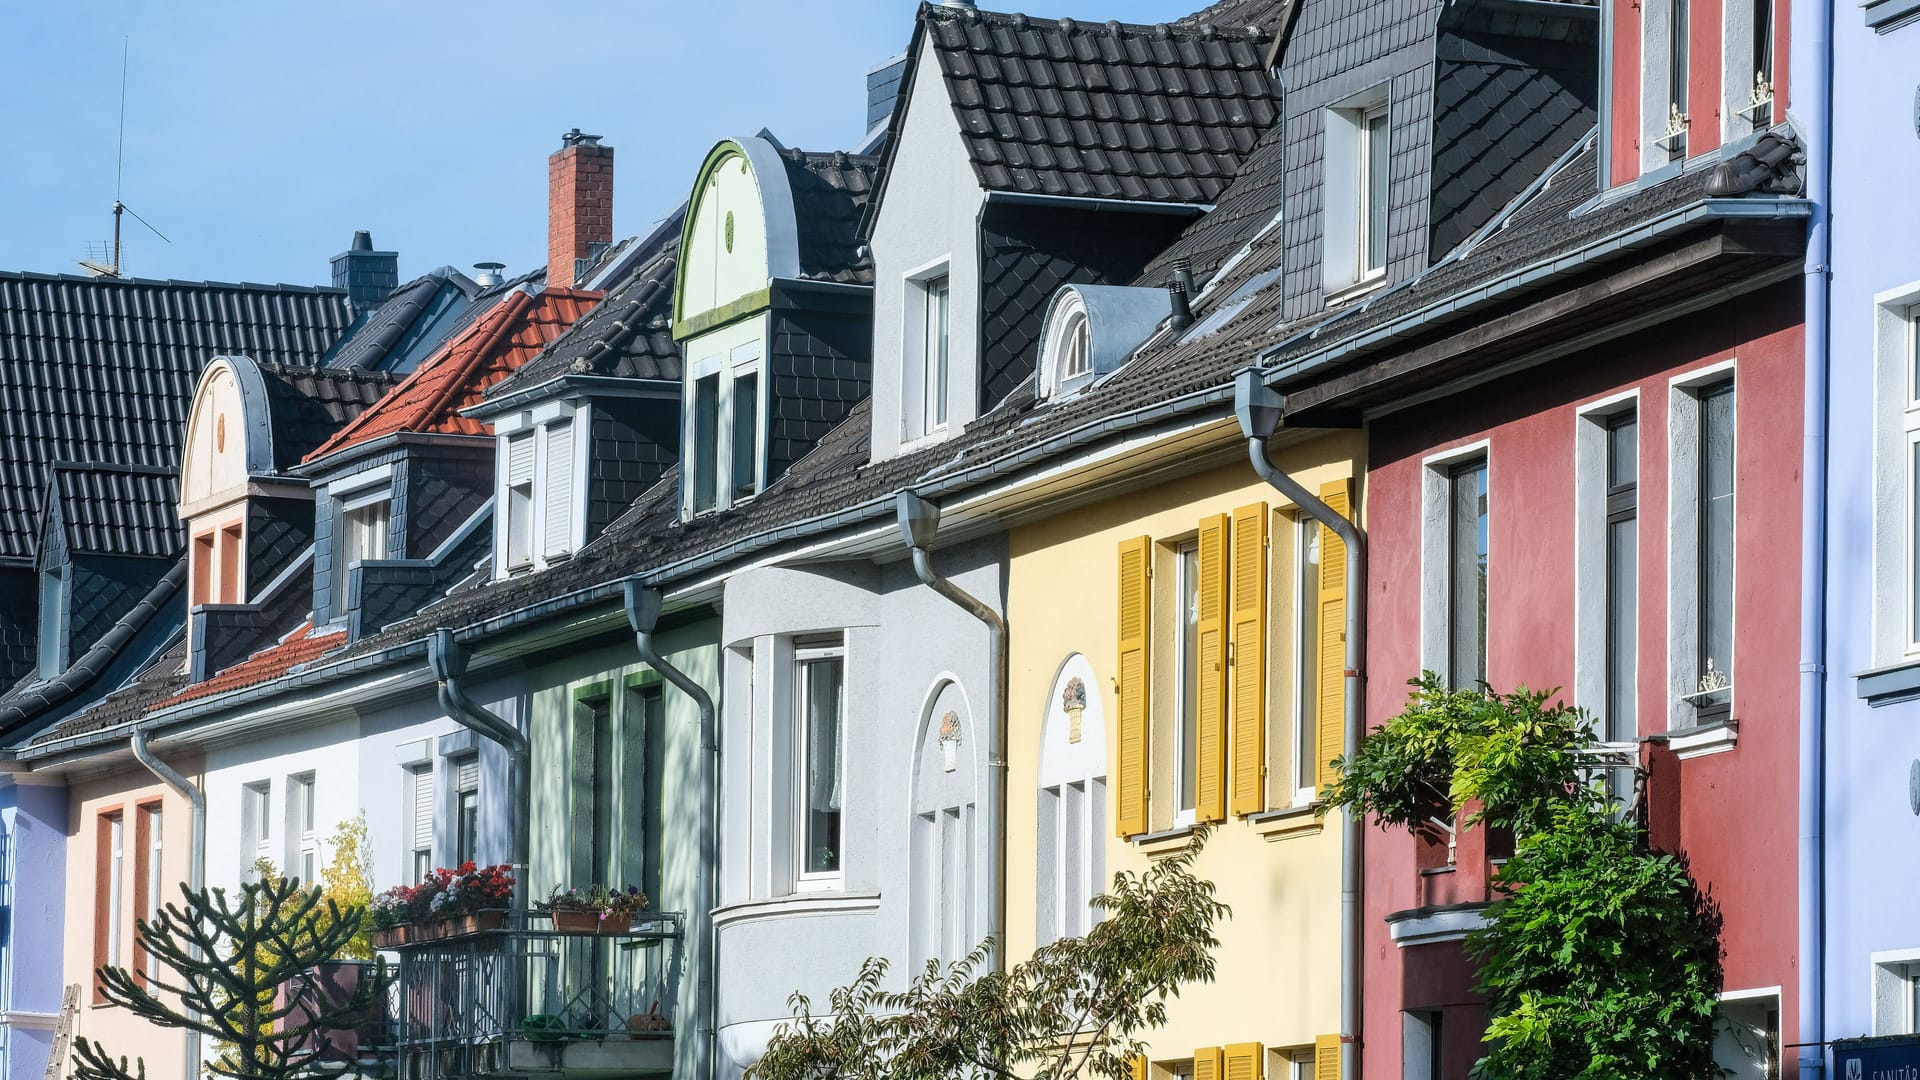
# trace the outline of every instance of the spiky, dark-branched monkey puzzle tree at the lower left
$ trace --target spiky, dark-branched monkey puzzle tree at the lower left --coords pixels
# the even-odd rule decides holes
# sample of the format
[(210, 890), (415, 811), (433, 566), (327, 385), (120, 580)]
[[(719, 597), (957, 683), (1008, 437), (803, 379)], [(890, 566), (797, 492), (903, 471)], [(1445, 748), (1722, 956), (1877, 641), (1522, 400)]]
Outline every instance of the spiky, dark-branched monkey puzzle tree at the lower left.
[[(363, 909), (323, 899), (319, 888), (267, 876), (227, 890), (180, 886), (184, 903), (169, 903), (134, 934), (157, 970), (98, 970), (102, 995), (131, 1015), (198, 1032), (217, 1047), (207, 1072), (228, 1080), (290, 1080), (311, 1068), (323, 1036), (357, 1026), (386, 994), (386, 967), (376, 963), (346, 999), (278, 992), (315, 965), (338, 959), (359, 932)], [(77, 1080), (146, 1080), (146, 1061), (111, 1057), (98, 1042), (73, 1043)]]

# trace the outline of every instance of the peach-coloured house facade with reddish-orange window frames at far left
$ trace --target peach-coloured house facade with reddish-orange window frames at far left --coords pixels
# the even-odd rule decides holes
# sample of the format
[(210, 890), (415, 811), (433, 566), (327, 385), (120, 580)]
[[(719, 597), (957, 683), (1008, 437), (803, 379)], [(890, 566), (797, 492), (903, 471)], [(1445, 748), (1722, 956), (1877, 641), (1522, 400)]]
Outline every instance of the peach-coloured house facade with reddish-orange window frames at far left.
[[(169, 759), (169, 765), (196, 784), (202, 780), (198, 761)], [(192, 851), (192, 807), (138, 767), (75, 780), (67, 799), (63, 982), (81, 988), (73, 1034), (98, 1042), (115, 1059), (142, 1059), (148, 1080), (180, 1080), (186, 1076), (186, 1038), (106, 1003), (96, 992), (94, 969), (111, 961), (138, 970), (144, 955), (134, 945), (134, 919), (146, 919), (156, 899), (180, 903)]]

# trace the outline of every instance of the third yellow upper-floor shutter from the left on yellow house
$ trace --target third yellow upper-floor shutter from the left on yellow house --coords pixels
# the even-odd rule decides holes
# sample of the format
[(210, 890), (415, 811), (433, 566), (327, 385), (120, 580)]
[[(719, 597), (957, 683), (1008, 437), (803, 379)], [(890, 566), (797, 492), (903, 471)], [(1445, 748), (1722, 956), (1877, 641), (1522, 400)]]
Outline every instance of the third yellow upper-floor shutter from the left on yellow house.
[(1233, 813), (1267, 809), (1267, 503), (1233, 511)]

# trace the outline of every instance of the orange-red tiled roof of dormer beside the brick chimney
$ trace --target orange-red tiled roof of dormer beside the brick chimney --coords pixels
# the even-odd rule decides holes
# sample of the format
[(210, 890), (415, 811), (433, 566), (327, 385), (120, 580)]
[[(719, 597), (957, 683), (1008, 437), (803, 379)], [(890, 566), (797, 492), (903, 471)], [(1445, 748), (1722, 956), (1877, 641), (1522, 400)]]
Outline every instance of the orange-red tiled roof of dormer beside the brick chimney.
[(547, 342), (591, 311), (599, 296), (578, 288), (547, 288), (540, 294), (511, 290), (492, 311), (434, 350), (386, 398), (307, 454), (305, 461), (401, 430), (488, 434), (484, 423), (463, 417), (461, 409), (478, 404), (488, 386), (540, 356)]

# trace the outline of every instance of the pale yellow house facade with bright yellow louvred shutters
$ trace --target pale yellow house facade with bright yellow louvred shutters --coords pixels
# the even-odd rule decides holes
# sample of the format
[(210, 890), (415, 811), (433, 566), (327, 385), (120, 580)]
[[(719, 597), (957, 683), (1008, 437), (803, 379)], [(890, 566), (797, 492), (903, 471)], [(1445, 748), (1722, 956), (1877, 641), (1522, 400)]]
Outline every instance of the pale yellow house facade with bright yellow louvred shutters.
[[(1231, 429), (1221, 440), (1236, 442)], [(1356, 482), (1361, 454), (1359, 432), (1338, 432), (1275, 452), (1275, 461), (1308, 490), (1334, 494)], [(1060, 759), (1062, 738), (1100, 723), (1098, 734), (1079, 730), (1075, 740), (1104, 742), (1104, 880), (1092, 892), (1116, 871), (1142, 871), (1181, 849), (1188, 817), (1212, 819), (1219, 824), (1198, 872), (1233, 909), (1215, 928), (1215, 980), (1187, 988), (1150, 1036), (1150, 1076), (1292, 1080), (1313, 1074), (1315, 1042), (1340, 1020), (1340, 834), (1336, 819), (1311, 811), (1315, 757), (1338, 753), (1313, 753), (1327, 736), (1313, 696), (1325, 669), (1311, 555), (1329, 544), (1317, 544), (1319, 527), (1302, 525), (1306, 515), (1231, 446), (1221, 461), (1012, 530), (1006, 872), (1008, 896), (1020, 899), (1008, 903), (1008, 947), (1018, 961), (1062, 928), (1048, 905), (1062, 892), (1064, 803), (1048, 763)], [(1125, 582), (1142, 580), (1142, 569), (1146, 594), (1129, 594)], [(1192, 617), (1181, 626), (1187, 607)], [(1332, 661), (1336, 676), (1340, 657)], [(1081, 692), (1085, 707), (1062, 723), (1062, 701)], [(1121, 728), (1133, 713), (1144, 715), (1146, 753), (1123, 771)], [(1183, 713), (1198, 728), (1190, 751), (1175, 748)], [(1256, 723), (1242, 724), (1248, 715)], [(1142, 824), (1144, 834), (1119, 836)]]

